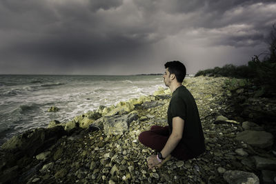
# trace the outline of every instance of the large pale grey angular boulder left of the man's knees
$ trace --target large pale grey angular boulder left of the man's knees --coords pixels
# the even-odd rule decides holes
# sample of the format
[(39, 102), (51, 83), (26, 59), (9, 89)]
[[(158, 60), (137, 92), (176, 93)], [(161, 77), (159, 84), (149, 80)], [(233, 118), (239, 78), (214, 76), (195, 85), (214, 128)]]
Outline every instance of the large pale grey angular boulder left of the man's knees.
[(124, 134), (124, 132), (128, 131), (129, 124), (137, 119), (137, 114), (126, 114), (124, 116), (105, 116), (102, 119), (103, 132), (106, 135)]

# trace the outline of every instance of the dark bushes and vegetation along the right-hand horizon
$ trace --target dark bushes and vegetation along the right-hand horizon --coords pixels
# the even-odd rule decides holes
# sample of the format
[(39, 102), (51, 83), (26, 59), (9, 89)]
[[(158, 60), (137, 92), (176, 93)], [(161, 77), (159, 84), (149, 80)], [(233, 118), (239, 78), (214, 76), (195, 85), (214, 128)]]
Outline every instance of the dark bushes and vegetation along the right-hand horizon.
[(226, 76), (238, 79), (248, 79), (250, 85), (262, 90), (262, 96), (272, 97), (276, 95), (276, 24), (270, 32), (268, 41), (268, 52), (262, 53), (264, 59), (260, 61), (259, 56), (255, 55), (248, 65), (235, 66), (232, 64), (213, 69), (199, 70), (195, 76)]

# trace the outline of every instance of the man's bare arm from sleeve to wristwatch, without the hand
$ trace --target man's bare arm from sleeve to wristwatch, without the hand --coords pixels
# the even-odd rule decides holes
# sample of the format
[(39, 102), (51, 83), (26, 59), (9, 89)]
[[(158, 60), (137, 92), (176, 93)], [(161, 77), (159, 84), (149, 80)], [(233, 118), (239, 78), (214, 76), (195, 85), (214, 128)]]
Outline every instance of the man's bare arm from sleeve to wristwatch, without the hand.
[(161, 150), (161, 154), (164, 158), (175, 150), (175, 147), (177, 147), (177, 144), (182, 139), (183, 130), (184, 119), (181, 119), (179, 116), (172, 118), (172, 134), (170, 134), (166, 145), (163, 150)]

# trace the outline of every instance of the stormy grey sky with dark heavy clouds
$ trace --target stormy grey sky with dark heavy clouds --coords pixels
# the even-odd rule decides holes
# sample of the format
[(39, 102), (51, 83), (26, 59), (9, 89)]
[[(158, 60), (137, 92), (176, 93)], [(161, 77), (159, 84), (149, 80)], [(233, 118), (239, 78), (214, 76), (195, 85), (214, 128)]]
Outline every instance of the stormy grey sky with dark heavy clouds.
[(276, 1), (1, 0), (0, 74), (188, 73), (268, 48)]

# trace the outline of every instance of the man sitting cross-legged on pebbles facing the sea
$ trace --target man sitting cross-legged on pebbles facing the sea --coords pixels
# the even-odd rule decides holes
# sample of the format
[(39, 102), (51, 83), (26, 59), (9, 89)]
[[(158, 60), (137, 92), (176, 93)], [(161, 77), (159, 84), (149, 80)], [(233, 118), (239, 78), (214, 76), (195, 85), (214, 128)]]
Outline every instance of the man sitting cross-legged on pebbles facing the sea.
[(205, 151), (197, 104), (193, 95), (182, 85), (186, 67), (179, 61), (168, 61), (165, 68), (164, 83), (172, 92), (167, 112), (168, 126), (154, 125), (139, 135), (142, 144), (157, 150), (157, 155), (148, 157), (149, 169), (160, 167), (170, 156), (187, 160)]

